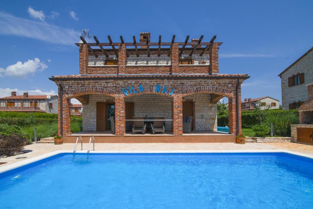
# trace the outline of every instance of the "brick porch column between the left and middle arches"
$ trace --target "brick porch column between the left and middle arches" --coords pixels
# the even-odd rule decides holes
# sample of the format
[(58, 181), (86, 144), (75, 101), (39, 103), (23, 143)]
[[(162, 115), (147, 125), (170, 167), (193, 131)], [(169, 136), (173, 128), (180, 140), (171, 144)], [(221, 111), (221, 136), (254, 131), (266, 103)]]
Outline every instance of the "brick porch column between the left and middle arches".
[(115, 97), (115, 135), (125, 134), (125, 99), (121, 95)]

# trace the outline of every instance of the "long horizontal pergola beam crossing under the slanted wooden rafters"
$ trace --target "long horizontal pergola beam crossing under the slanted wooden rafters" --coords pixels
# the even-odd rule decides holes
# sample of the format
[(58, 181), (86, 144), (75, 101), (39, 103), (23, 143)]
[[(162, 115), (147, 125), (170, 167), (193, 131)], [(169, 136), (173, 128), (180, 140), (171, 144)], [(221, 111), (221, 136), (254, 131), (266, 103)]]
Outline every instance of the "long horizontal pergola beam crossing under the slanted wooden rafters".
[[(185, 42), (175, 42), (176, 44), (182, 46), (185, 44)], [(222, 45), (223, 42), (215, 42), (217, 43), (218, 45)], [(87, 43), (88, 46), (119, 46), (121, 44), (121, 42), (112, 42), (112, 43)], [(170, 46), (172, 44), (172, 42), (161, 42), (161, 44), (159, 44), (159, 42), (149, 42), (149, 46), (158, 46), (158, 45), (161, 45), (161, 46)], [(187, 42), (186, 43), (186, 46), (191, 46), (191, 45), (194, 45), (195, 42)], [(208, 45), (210, 44), (210, 42), (201, 42), (201, 45)], [(75, 43), (76, 46), (79, 46), (80, 43)], [(125, 42), (125, 45), (126, 46), (133, 46), (134, 43), (133, 42)], [(146, 42), (138, 42), (137, 43), (137, 46), (146, 46)]]

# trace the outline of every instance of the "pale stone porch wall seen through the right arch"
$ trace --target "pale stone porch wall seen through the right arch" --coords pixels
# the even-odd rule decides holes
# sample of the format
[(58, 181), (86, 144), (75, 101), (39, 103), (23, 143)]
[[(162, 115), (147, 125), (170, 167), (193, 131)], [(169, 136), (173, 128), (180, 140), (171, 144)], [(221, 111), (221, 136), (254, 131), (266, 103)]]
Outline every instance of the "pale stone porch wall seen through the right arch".
[(194, 128), (196, 131), (217, 131), (216, 103), (210, 103), (211, 94), (194, 94), (183, 98), (184, 101), (194, 102)]

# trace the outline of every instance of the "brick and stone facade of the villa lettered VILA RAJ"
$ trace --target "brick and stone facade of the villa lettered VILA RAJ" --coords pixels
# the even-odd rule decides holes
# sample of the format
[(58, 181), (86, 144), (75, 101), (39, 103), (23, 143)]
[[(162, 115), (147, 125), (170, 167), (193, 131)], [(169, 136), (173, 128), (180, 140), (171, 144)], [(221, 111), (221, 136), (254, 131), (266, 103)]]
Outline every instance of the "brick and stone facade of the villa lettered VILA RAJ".
[[(111, 49), (105, 49), (105, 52), (92, 49), (98, 56), (97, 59), (93, 58), (94, 55), (89, 51), (87, 44), (77, 44), (80, 47), (80, 74), (50, 78), (59, 87), (59, 94), (62, 91), (63, 95), (62, 102), (59, 98), (59, 134), (61, 125), (63, 135), (71, 133), (71, 98), (78, 99), (84, 105), (83, 129), (94, 130), (95, 102), (104, 101), (107, 97), (115, 102), (117, 137), (123, 137), (125, 134), (125, 102), (130, 101), (134, 102), (135, 116), (164, 115), (172, 119), (172, 124), (166, 124), (167, 128), (171, 128), (174, 136), (182, 136), (182, 102), (186, 98), (195, 102), (195, 129), (216, 130), (216, 103), (221, 98), (228, 97), (230, 133), (241, 133), (241, 83), (249, 76), (219, 74), (218, 46), (221, 43), (206, 42), (207, 47), (199, 45), (194, 49), (190, 47), (192, 44), (188, 43), (189, 47), (184, 49), (182, 55), (192, 56), (193, 63), (180, 65), (179, 59), (182, 55), (179, 54), (182, 48), (179, 48), (179, 43), (183, 42), (174, 42), (167, 48), (162, 46), (149, 49), (146, 44), (150, 43), (150, 40), (147, 38), (150, 38), (150, 34), (142, 35), (141, 39), (145, 42), (142, 42), (137, 50), (126, 49), (127, 44), (129, 46), (133, 43), (115, 43), (115, 47), (118, 47), (117, 55)], [(102, 55), (105, 54), (109, 57), (116, 55), (117, 65), (101, 66), (101, 59), (104, 59)], [(141, 60), (139, 58), (144, 61), (140, 61), (138, 65)], [(159, 65), (158, 61), (163, 63)], [(205, 61), (205, 64), (200, 61)], [(236, 104), (237, 97), (239, 103)]]

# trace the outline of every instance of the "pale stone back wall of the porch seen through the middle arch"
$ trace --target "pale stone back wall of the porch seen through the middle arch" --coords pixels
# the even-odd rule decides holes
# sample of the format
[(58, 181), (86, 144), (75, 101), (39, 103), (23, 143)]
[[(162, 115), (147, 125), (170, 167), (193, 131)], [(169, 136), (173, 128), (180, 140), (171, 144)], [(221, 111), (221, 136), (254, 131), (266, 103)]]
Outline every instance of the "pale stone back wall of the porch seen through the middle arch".
[[(125, 99), (125, 102), (134, 102), (134, 116), (158, 117), (172, 119), (172, 98), (156, 95), (142, 94)], [(172, 121), (165, 122), (165, 130), (172, 130)]]

